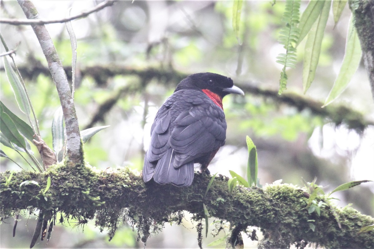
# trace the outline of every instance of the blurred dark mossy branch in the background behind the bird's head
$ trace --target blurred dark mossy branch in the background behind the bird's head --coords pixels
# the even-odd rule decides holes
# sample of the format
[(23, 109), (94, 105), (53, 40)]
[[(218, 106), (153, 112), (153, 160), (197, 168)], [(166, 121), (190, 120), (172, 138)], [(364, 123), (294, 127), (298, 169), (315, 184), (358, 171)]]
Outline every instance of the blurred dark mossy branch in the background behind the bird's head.
[[(29, 65), (33, 65), (32, 68), (19, 67), (19, 71), (24, 76), (24, 78), (34, 79), (39, 74), (49, 74), (47, 68), (42, 66), (37, 61), (32, 61)], [(3, 69), (1, 69), (3, 70)], [(64, 67), (67, 73), (68, 79), (71, 80), (71, 66)], [(145, 84), (150, 82), (152, 79), (156, 79), (162, 84), (166, 84), (174, 88), (177, 83), (188, 76), (188, 74), (175, 71), (173, 69), (165, 70), (159, 68), (134, 68), (131, 66), (119, 66), (119, 65), (96, 65), (96, 66), (86, 66), (80, 70), (80, 75), (83, 77), (92, 77), (96, 84), (103, 85), (108, 79), (117, 75), (135, 75), (140, 78), (138, 85), (132, 85), (131, 87), (125, 87), (119, 90), (119, 93), (115, 96), (111, 96), (110, 99), (103, 102), (103, 106), (98, 108), (97, 113), (93, 116), (89, 125), (86, 128), (92, 127), (96, 122), (101, 121), (102, 117), (105, 116), (106, 112), (109, 112), (111, 107), (113, 107), (120, 97), (126, 94), (134, 94), (134, 91), (142, 91)], [(358, 132), (364, 131), (368, 125), (374, 125), (374, 122), (365, 118), (365, 116), (348, 108), (343, 105), (328, 105), (325, 108), (321, 106), (324, 105), (323, 102), (316, 101), (300, 94), (296, 93), (283, 93), (278, 94), (278, 90), (263, 89), (250, 84), (250, 82), (236, 82), (240, 88), (242, 88), (246, 93), (254, 94), (257, 96), (263, 96), (267, 99), (271, 99), (278, 103), (283, 103), (289, 106), (296, 107), (299, 111), (304, 109), (309, 109), (313, 115), (318, 115), (323, 118), (327, 118), (328, 121), (333, 122), (335, 125), (347, 125), (349, 129), (354, 129)], [(109, 105), (109, 106), (107, 106)]]

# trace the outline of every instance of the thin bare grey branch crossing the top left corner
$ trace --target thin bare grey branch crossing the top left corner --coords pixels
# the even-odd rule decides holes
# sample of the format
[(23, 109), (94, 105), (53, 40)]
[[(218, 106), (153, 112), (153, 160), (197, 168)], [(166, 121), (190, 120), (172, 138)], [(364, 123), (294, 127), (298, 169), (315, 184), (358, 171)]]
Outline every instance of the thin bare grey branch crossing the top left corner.
[(55, 20), (42, 20), (42, 19), (12, 19), (12, 18), (3, 18), (0, 19), (0, 23), (3, 24), (11, 24), (11, 25), (44, 25), (44, 24), (56, 24), (56, 23), (63, 23), (63, 22), (68, 22), (74, 19), (79, 19), (86, 17), (90, 15), (91, 13), (98, 12), (99, 10), (104, 9), (107, 6), (111, 6), (114, 4), (114, 2), (117, 0), (105, 0), (102, 3), (99, 3), (96, 5), (94, 8), (86, 11), (82, 11), (82, 13), (75, 15), (75, 16), (70, 16), (68, 18), (63, 18), (63, 19), (55, 19)]

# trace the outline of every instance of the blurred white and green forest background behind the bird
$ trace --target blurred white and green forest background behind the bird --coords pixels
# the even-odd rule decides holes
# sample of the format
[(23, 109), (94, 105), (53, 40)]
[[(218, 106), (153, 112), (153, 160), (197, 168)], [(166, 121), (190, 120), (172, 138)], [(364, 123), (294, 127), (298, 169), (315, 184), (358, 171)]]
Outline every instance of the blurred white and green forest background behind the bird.
[[(42, 19), (58, 19), (65, 17), (69, 7), (74, 15), (99, 2), (38, 0), (34, 4)], [(306, 1), (301, 2), (301, 11), (306, 5)], [(239, 42), (232, 28), (232, 6), (233, 1), (119, 1), (72, 22), (78, 46), (74, 99), (80, 127), (110, 125), (85, 144), (85, 159), (90, 165), (98, 169), (126, 166), (141, 172), (154, 115), (183, 75), (215, 72), (233, 78), (237, 85), (278, 89), (282, 66), (275, 58), (283, 52), (277, 40), (284, 25), (281, 19), (285, 3), (244, 1)], [(0, 13), (4, 18), (25, 18), (16, 1), (1, 1)], [(349, 17), (347, 6), (336, 27), (332, 15), (329, 17), (316, 78), (305, 94), (312, 100), (324, 102), (334, 83), (344, 56)], [(26, 82), (42, 138), (52, 146), (51, 124), (59, 98), (40, 45), (27, 25), (1, 24), (0, 29), (10, 49), (18, 45), (16, 64)], [(63, 65), (71, 67), (65, 25), (49, 24), (47, 29)], [(303, 92), (304, 42), (298, 47), (296, 68), (287, 71), (286, 93)], [(71, 80), (71, 73), (68, 78)], [(1, 101), (25, 118), (7, 83), (2, 60), (0, 81)], [(282, 179), (283, 183), (303, 186), (304, 181), (317, 177), (316, 183), (329, 192), (348, 181), (374, 180), (373, 126), (358, 133), (344, 125), (337, 127), (308, 109), (300, 112), (269, 97), (249, 93), (244, 97), (227, 96), (223, 104), (227, 139), (209, 166), (212, 174), (230, 175), (230, 169), (245, 176), (248, 135), (257, 146), (261, 184)], [(363, 65), (332, 105), (345, 105), (374, 120), (373, 98)], [(17, 153), (4, 146), (1, 149), (27, 168)], [(20, 170), (6, 158), (0, 158), (0, 163), (1, 171)], [(352, 203), (363, 214), (374, 216), (373, 192), (374, 185), (367, 183), (333, 196), (338, 198), (338, 206)], [(188, 220), (189, 214), (185, 215), (182, 226), (167, 224), (151, 236), (147, 248), (196, 248), (196, 224)], [(0, 225), (1, 248), (25, 248), (30, 244), (36, 216), (24, 214), (20, 218), (14, 238), (13, 218)], [(105, 231), (99, 233), (94, 222), (83, 228), (74, 224), (71, 220), (56, 225), (49, 243), (39, 241), (35, 248), (143, 247), (128, 224), (111, 242)], [(223, 235), (221, 232), (219, 236)], [(203, 246), (215, 239), (209, 235)], [(247, 239), (245, 248), (256, 248), (256, 243)]]

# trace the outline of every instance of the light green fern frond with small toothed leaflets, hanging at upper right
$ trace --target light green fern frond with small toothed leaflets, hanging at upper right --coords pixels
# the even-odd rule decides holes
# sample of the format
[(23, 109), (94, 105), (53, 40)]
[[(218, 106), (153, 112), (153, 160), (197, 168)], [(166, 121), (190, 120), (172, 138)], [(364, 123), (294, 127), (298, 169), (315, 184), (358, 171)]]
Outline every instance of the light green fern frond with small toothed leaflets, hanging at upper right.
[(300, 19), (300, 0), (286, 0), (285, 11), (282, 16), (282, 22), (285, 27), (279, 32), (278, 41), (286, 50), (286, 53), (280, 53), (276, 62), (283, 65), (281, 79), (279, 80), (279, 92), (281, 94), (286, 89), (287, 74), (286, 68), (295, 68), (296, 65), (296, 48), (295, 45), (300, 36), (300, 30), (297, 24)]

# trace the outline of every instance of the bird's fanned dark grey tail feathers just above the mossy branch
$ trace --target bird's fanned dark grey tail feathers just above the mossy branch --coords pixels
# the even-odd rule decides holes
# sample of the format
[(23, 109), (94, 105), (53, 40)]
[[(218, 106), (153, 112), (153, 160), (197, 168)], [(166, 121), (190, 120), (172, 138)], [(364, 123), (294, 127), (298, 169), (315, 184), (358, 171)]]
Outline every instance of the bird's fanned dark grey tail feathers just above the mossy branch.
[(153, 180), (159, 184), (171, 183), (177, 187), (190, 186), (194, 176), (193, 161), (175, 168), (174, 157), (174, 149), (169, 149), (162, 156), (157, 162), (156, 169), (153, 168)]

